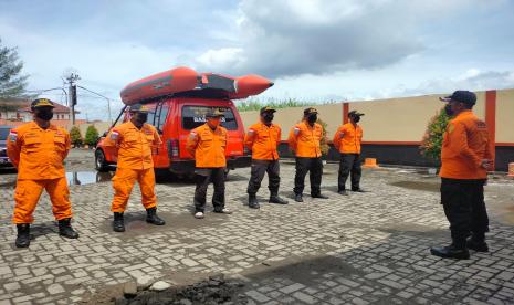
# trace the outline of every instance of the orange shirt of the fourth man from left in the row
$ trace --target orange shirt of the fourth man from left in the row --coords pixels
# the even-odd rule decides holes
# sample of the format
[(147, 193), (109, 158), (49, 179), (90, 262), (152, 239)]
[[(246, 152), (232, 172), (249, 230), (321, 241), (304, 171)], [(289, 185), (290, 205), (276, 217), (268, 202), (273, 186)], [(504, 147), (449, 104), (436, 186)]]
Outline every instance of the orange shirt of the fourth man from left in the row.
[(281, 140), (281, 129), (276, 124), (268, 127), (262, 122), (253, 124), (244, 137), (244, 145), (252, 150), (252, 159), (277, 160), (276, 147)]

